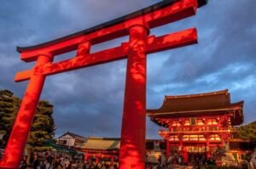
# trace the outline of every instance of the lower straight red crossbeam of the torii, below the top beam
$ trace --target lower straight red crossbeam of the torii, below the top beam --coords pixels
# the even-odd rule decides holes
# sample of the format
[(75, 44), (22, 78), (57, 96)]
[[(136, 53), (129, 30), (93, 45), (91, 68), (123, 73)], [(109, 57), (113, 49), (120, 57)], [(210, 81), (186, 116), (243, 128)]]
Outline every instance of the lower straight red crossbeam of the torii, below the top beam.
[[(172, 48), (180, 48), (195, 43), (197, 43), (197, 33), (195, 28), (178, 31), (161, 37), (150, 36), (147, 39), (146, 53), (153, 54), (156, 52)], [(86, 43), (86, 45), (88, 44)], [(89, 47), (86, 48), (87, 49), (84, 48), (84, 54), (78, 52), (78, 55), (73, 57), (73, 59), (67, 59), (55, 64), (38, 66), (35, 68), (35, 73), (44, 74), (47, 76), (54, 75), (68, 70), (76, 70), (92, 65), (108, 63), (119, 59), (126, 59), (128, 54), (128, 42), (122, 43), (119, 47), (110, 48), (94, 54), (89, 54)], [(85, 52), (85, 50), (87, 52)], [(30, 76), (32, 76), (32, 71), (33, 70), (25, 70), (18, 72), (15, 76), (15, 82), (28, 80)]]

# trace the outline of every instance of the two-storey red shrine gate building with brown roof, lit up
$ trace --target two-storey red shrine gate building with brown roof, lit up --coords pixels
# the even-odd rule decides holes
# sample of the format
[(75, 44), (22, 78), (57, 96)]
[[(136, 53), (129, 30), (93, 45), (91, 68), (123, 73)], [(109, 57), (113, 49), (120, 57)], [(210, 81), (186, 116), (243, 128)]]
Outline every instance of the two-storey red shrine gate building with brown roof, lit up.
[(147, 110), (151, 121), (167, 130), (166, 158), (182, 155), (185, 163), (210, 158), (218, 148), (228, 146), (233, 126), (243, 122), (243, 101), (230, 102), (228, 90), (191, 95), (166, 96), (157, 110)]

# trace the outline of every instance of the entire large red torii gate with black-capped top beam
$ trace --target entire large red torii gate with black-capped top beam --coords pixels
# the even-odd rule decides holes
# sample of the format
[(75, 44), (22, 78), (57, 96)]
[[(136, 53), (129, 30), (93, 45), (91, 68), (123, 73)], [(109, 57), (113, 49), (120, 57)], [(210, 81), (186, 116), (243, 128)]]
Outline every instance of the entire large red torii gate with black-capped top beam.
[[(146, 55), (197, 42), (196, 29), (162, 37), (148, 37), (151, 28), (182, 20), (196, 13), (207, 0), (165, 0), (102, 25), (36, 46), (17, 48), (20, 59), (36, 61), (32, 70), (18, 72), (15, 82), (30, 80), (0, 166), (18, 168), (46, 76), (119, 59), (127, 59), (125, 101), (119, 168), (143, 169), (146, 126)], [(129, 35), (129, 42), (90, 54), (90, 46)], [(76, 56), (52, 63), (58, 54), (77, 50)]]

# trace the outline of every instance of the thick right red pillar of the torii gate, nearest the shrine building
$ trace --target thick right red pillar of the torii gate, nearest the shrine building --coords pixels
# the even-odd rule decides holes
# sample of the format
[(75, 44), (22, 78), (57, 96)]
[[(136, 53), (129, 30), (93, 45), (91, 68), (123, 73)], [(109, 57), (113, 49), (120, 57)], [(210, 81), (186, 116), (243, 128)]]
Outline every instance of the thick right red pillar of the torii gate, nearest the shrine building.
[(130, 27), (119, 169), (145, 168), (146, 39), (145, 25)]

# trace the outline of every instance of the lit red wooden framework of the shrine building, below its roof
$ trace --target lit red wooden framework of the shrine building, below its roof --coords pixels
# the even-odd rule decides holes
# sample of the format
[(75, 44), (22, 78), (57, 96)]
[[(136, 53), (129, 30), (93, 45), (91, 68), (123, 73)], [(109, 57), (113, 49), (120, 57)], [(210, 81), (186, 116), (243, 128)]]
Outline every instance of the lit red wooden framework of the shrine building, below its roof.
[[(198, 125), (190, 125), (185, 126), (185, 121), (189, 121), (190, 116), (184, 114), (180, 117), (164, 117), (164, 118), (157, 118), (156, 120), (160, 123), (165, 123), (167, 125), (168, 131), (160, 130), (159, 134), (162, 138), (166, 140), (170, 140), (171, 137), (177, 136), (178, 140), (170, 140), (169, 144), (171, 146), (179, 145), (183, 150), (180, 150), (180, 155), (183, 155), (183, 161), (188, 161), (188, 149), (186, 146), (205, 146), (206, 147), (206, 155), (207, 158), (211, 157), (210, 147), (222, 147), (224, 142), (226, 142), (230, 138), (230, 127), (224, 127), (225, 121), (230, 121), (231, 115), (230, 112), (227, 110), (224, 115), (198, 115), (196, 116), (197, 121), (202, 121), (204, 124)], [(216, 120), (217, 124), (209, 124), (212, 119)], [(175, 121), (178, 121), (180, 126), (172, 126), (176, 124)], [(216, 130), (212, 131), (210, 127), (216, 127)], [(189, 131), (184, 131), (189, 128)], [(199, 129), (199, 130), (198, 130)], [(220, 140), (210, 140), (212, 134), (218, 134), (221, 138)], [(205, 140), (183, 140), (183, 135), (203, 135)], [(166, 149), (168, 147), (166, 146)], [(167, 154), (166, 154), (167, 156)]]

